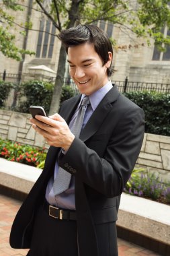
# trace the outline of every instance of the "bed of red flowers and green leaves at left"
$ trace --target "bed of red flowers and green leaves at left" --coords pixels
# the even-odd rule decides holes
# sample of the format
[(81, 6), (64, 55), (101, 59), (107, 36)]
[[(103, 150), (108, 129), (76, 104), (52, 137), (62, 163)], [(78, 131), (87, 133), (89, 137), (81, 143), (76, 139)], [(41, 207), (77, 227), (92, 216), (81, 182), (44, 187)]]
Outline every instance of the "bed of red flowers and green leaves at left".
[(15, 141), (0, 139), (0, 156), (9, 161), (38, 166), (46, 158), (46, 152), (44, 148), (34, 148)]

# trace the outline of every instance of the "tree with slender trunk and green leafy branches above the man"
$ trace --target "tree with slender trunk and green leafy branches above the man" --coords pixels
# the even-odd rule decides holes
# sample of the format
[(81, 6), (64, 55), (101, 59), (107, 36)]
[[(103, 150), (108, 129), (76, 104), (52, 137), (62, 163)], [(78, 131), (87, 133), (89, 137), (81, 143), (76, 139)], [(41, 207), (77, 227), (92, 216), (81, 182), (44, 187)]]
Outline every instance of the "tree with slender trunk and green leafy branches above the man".
[[(16, 3), (21, 7), (19, 1), (3, 0), (4, 5), (7, 3), (8, 7), (10, 7), (9, 3), (11, 7)], [(48, 3), (48, 10), (44, 7), (44, 3)], [(170, 44), (170, 36), (165, 37), (161, 33), (161, 28), (165, 25), (170, 28), (168, 0), (36, 0), (36, 4), (59, 32), (79, 23), (91, 24), (100, 20), (125, 28), (137, 37), (146, 38), (148, 44), (150, 38), (153, 38), (161, 51)], [(113, 43), (116, 42), (113, 40)], [(50, 114), (58, 110), (66, 58), (65, 49), (61, 46)]]

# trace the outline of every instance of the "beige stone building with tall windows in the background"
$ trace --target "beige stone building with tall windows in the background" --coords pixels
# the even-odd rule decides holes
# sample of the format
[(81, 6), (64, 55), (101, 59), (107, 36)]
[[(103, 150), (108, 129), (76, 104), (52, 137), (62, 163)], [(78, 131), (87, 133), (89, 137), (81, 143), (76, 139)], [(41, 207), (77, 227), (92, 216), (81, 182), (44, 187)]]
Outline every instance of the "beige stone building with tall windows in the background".
[[(44, 1), (46, 8), (48, 2)], [(33, 0), (24, 2), (28, 7), (32, 7)], [(58, 66), (58, 55), (60, 51), (60, 41), (54, 34), (58, 31), (47, 20), (40, 11), (26, 8), (24, 11), (17, 11), (15, 22), (25, 23), (31, 18), (33, 23), (32, 30), (26, 31), (26, 38), (19, 34), (21, 28), (11, 28), (15, 30), (17, 46), (24, 47), (34, 51), (35, 55), (23, 55), (23, 59), (17, 62), (13, 59), (7, 59), (0, 53), (0, 73), (6, 70), (7, 73), (21, 74), (22, 79), (28, 80), (35, 77), (55, 77)], [(151, 40), (151, 46), (147, 46), (144, 40), (137, 39), (130, 31), (126, 31), (113, 26), (108, 22), (98, 22), (108, 35), (117, 41), (114, 49), (113, 65), (116, 72), (113, 81), (124, 81), (128, 77), (132, 82), (153, 82), (170, 84), (170, 47), (166, 53), (159, 53), (155, 49), (154, 42)], [(170, 34), (165, 28), (165, 34)], [(66, 71), (68, 76), (68, 68)]]

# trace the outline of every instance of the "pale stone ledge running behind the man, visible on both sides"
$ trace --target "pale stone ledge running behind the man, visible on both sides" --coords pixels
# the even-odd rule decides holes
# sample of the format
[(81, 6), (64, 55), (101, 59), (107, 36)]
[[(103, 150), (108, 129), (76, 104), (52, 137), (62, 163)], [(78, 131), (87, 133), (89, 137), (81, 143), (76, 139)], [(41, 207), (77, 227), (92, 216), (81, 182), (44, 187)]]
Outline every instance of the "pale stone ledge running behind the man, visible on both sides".
[[(42, 170), (0, 158), (0, 185), (29, 193)], [(122, 193), (117, 225), (170, 245), (170, 207)]]

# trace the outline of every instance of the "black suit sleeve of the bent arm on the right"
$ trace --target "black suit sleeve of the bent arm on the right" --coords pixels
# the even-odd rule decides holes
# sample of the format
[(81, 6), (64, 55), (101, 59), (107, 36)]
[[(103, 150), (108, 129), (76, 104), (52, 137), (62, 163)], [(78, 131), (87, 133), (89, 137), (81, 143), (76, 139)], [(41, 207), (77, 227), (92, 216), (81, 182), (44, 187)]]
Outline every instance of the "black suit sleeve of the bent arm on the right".
[(138, 158), (144, 136), (144, 113), (130, 109), (110, 136), (103, 157), (75, 137), (59, 165), (106, 197), (120, 195)]

